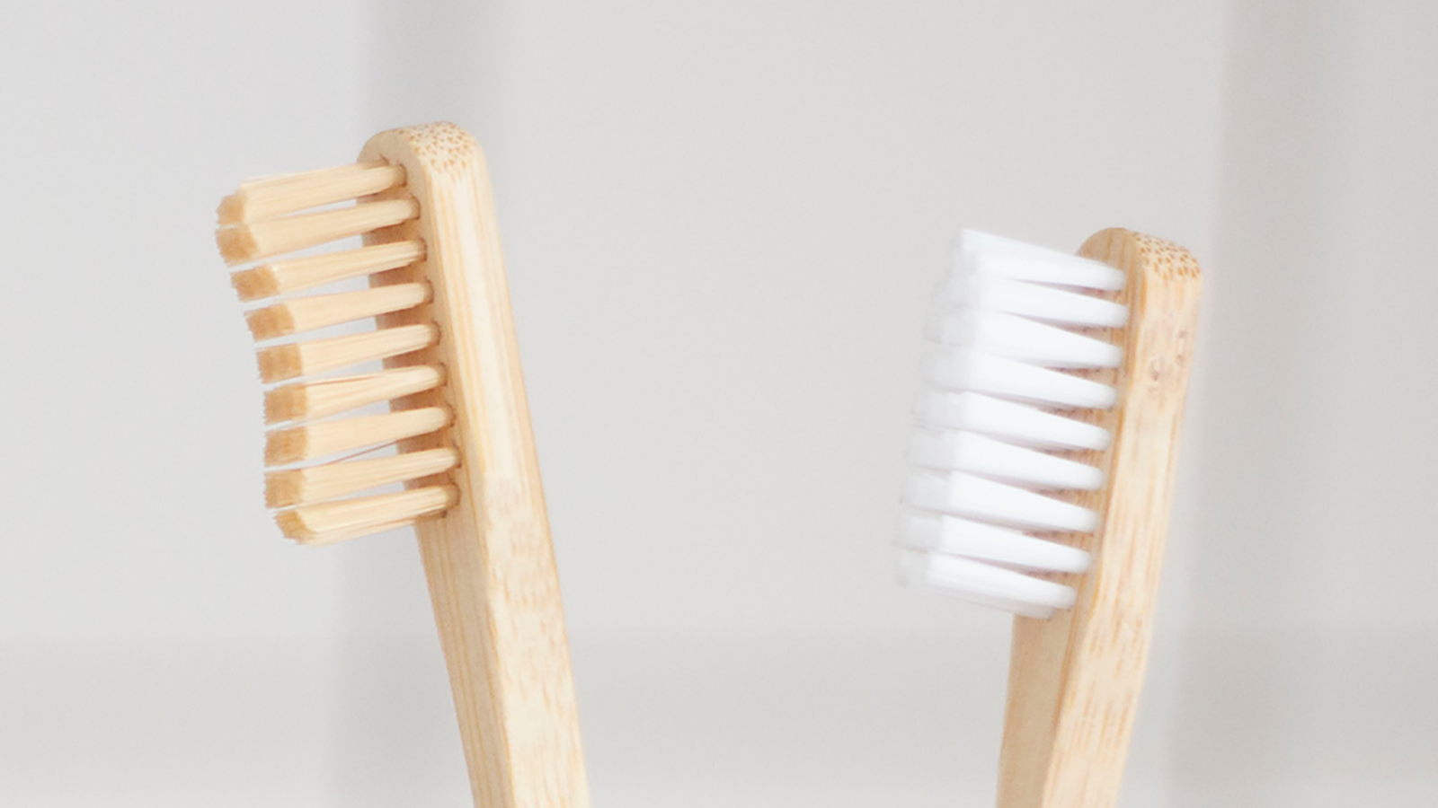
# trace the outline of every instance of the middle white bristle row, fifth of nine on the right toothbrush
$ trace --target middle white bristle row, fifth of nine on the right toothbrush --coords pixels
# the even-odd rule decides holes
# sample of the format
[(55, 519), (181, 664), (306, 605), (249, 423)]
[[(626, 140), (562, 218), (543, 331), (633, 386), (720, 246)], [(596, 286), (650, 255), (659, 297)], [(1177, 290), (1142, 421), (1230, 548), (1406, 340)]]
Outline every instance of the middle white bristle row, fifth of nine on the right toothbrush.
[(978, 392), (925, 390), (913, 413), (920, 424), (975, 431), (1024, 446), (1109, 449), (1109, 431), (1103, 427)]

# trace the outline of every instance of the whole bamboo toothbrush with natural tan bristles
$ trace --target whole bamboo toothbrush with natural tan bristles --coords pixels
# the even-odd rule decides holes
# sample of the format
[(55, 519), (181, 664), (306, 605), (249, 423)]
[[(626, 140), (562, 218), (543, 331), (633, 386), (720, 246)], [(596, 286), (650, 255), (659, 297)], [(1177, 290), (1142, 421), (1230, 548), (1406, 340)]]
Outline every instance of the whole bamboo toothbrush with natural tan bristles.
[[(354, 203), (354, 204), (349, 204)], [(318, 210), (311, 210), (318, 208)], [(470, 789), (490, 808), (585, 808), (569, 651), (477, 144), (452, 124), (381, 132), (352, 165), (252, 180), (217, 242), (256, 341), (374, 318), (374, 331), (259, 349), (266, 503), (324, 545), (414, 525)], [(362, 236), (364, 247), (306, 254)], [(368, 276), (355, 292), (289, 298)], [(384, 369), (305, 378), (384, 359)], [(378, 416), (329, 418), (388, 401)], [(326, 420), (329, 418), (329, 420)], [(397, 443), (393, 456), (316, 459)], [(403, 492), (361, 492), (404, 483)]]

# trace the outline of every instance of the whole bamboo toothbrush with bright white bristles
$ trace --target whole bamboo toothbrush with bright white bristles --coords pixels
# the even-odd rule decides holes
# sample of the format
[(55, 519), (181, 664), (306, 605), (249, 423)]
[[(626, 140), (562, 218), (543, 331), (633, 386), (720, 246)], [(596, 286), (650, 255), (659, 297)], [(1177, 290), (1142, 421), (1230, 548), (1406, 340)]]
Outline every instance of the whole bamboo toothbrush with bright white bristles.
[(1012, 611), (999, 808), (1109, 808), (1152, 634), (1199, 269), (1103, 230), (1068, 256), (965, 231), (940, 286), (903, 579)]

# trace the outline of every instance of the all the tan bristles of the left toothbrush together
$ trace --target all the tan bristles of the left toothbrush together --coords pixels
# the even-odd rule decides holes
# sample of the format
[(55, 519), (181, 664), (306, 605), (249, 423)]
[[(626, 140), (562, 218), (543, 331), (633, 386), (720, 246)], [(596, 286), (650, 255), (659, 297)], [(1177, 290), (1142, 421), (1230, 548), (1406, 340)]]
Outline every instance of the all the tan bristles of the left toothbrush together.
[[(270, 300), (244, 315), (256, 342), (375, 322), (371, 331), (257, 349), (260, 380), (288, 382), (265, 392), (265, 421), (285, 424), (266, 437), (266, 505), (279, 509), (280, 531), (301, 543), (332, 543), (437, 518), (459, 496), (449, 479), (459, 453), (443, 437), (452, 414), (437, 392), (444, 384), (434, 359), (440, 332), (429, 316), (424, 243), (413, 226), (420, 210), (404, 181), (404, 168), (385, 162), (269, 177), (242, 184), (217, 211), (216, 243), (226, 263), (263, 260), (232, 273), (240, 300)], [(288, 254), (354, 236), (378, 243)], [(368, 289), (272, 300), (365, 276)], [(378, 372), (315, 378), (380, 359), (394, 364)], [(332, 418), (380, 403), (390, 403), (391, 411)], [(398, 444), (398, 451), (292, 467), (388, 444)], [(407, 490), (367, 493), (398, 483)]]

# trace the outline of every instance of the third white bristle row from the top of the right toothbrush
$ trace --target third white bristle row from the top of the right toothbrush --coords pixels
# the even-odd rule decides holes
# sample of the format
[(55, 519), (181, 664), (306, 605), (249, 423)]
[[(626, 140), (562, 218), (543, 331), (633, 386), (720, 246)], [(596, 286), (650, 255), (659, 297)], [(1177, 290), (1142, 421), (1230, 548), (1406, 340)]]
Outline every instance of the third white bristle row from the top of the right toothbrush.
[(1123, 348), (1053, 325), (972, 306), (935, 309), (926, 336), (1045, 368), (1116, 368)]

